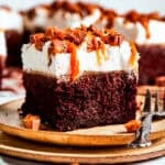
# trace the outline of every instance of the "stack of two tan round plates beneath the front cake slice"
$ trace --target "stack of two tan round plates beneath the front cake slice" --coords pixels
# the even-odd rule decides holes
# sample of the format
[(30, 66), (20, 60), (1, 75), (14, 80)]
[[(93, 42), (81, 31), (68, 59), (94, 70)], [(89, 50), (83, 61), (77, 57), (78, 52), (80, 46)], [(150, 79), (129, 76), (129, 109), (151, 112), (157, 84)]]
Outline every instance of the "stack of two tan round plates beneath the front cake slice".
[(134, 134), (127, 133), (123, 124), (69, 132), (24, 129), (18, 112), (22, 102), (23, 99), (0, 107), (0, 130), (7, 133), (0, 132), (1, 154), (54, 163), (111, 164), (165, 155), (165, 120), (152, 123), (151, 146), (132, 148), (128, 144)]

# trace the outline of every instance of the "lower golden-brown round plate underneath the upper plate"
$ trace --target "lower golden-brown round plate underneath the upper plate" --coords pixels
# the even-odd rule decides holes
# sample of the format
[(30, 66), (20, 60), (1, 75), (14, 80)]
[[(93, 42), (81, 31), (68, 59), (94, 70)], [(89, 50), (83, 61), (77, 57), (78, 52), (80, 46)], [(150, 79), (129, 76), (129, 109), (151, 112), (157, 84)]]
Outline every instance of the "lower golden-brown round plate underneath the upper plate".
[(165, 155), (165, 139), (152, 146), (70, 147), (25, 141), (0, 132), (0, 153), (10, 156), (52, 163), (114, 164), (150, 160)]

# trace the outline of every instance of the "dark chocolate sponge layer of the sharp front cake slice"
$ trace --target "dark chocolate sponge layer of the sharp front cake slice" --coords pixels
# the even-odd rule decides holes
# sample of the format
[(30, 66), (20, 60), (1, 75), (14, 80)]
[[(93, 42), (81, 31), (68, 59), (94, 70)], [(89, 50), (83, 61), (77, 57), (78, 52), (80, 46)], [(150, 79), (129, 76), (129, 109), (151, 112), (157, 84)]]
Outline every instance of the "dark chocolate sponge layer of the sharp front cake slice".
[(125, 72), (86, 74), (75, 81), (24, 72), (23, 116), (38, 114), (55, 130), (68, 131), (135, 118), (136, 76)]

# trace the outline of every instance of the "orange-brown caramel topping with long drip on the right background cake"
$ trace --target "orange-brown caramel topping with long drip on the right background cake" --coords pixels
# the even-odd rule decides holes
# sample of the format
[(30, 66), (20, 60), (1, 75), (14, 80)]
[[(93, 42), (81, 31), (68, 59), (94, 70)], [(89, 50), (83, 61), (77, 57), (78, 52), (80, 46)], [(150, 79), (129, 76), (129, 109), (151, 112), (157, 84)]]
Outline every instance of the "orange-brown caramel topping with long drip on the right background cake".
[(148, 29), (148, 22), (151, 19), (153, 20), (160, 20), (160, 15), (157, 12), (152, 12), (148, 14), (140, 14), (136, 11), (130, 11), (124, 15), (125, 20), (124, 23), (128, 21), (131, 21), (133, 23), (140, 22), (144, 29), (145, 29), (145, 37), (148, 38), (151, 36), (150, 29)]

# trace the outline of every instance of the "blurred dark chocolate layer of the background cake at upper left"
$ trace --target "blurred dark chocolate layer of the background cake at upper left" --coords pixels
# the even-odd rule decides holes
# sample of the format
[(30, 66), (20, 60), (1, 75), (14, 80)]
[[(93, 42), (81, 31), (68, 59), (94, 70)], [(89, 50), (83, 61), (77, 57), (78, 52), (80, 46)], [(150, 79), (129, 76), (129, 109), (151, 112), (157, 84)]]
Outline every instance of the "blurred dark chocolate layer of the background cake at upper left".
[(15, 30), (6, 31), (8, 57), (7, 66), (22, 66), (21, 46), (23, 43), (23, 34)]

